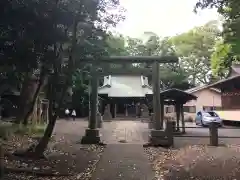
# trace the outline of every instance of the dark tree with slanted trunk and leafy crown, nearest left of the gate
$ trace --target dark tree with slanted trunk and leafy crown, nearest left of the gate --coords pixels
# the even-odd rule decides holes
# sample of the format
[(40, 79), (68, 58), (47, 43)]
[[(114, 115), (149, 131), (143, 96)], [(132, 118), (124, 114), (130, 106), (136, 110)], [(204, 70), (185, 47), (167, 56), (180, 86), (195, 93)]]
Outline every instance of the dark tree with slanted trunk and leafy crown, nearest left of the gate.
[[(52, 16), (52, 28), (54, 30), (62, 28), (63, 41), (57, 39), (52, 41), (49, 47), (52, 55), (49, 64), (48, 79), (48, 99), (49, 99), (49, 123), (45, 130), (44, 136), (36, 146), (31, 146), (26, 153), (32, 157), (42, 157), (49, 139), (52, 135), (56, 119), (59, 115), (60, 108), (63, 105), (67, 89), (72, 86), (72, 75), (80, 66), (80, 60), (86, 56), (92, 56), (98, 59), (101, 56), (108, 55), (106, 51), (106, 31), (109, 26), (115, 25), (119, 20), (112, 18), (114, 14), (105, 14), (110, 7), (115, 8), (118, 1), (59, 1), (55, 4), (55, 11)], [(65, 15), (59, 15), (64, 10)], [(59, 12), (60, 11), (60, 12)], [(58, 18), (56, 18), (58, 17)], [(68, 24), (64, 24), (67, 20)], [(54, 35), (54, 34), (52, 34)], [(79, 59), (77, 59), (79, 57)], [(44, 65), (45, 65), (44, 64)], [(18, 153), (17, 153), (18, 154)]]

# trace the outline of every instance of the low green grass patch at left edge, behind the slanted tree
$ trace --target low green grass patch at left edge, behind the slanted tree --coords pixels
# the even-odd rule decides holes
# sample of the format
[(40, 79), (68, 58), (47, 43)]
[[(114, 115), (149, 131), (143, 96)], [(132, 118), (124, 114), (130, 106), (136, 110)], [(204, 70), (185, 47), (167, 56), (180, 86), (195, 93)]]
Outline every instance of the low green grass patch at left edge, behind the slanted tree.
[(45, 129), (45, 124), (31, 124), (24, 126), (22, 124), (0, 122), (0, 138), (6, 140), (11, 135), (42, 136)]

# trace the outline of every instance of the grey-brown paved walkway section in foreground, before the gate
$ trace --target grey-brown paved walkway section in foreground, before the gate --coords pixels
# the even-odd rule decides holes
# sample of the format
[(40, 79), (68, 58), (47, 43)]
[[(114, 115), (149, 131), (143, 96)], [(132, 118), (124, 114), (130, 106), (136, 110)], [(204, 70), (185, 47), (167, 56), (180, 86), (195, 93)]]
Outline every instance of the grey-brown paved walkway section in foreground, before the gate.
[(140, 144), (109, 144), (91, 180), (152, 180), (154, 172)]

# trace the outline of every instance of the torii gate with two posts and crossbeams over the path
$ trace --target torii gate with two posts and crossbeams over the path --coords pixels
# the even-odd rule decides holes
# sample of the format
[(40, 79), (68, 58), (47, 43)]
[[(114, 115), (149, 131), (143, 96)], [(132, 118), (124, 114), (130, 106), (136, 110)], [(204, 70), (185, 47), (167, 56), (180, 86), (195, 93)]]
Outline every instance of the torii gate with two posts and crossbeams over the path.
[[(81, 60), (81, 63), (92, 64), (91, 68), (91, 114), (89, 119), (88, 129), (86, 129), (85, 136), (82, 138), (82, 144), (98, 144), (100, 143), (99, 129), (97, 129), (97, 101), (98, 101), (98, 78), (99, 76), (114, 74), (114, 72), (98, 72), (97, 68), (99, 65), (104, 63), (112, 64), (125, 64), (125, 63), (152, 63), (153, 69), (149, 72), (149, 69), (141, 69), (138, 72), (132, 72), (135, 74), (152, 74), (153, 78), (153, 121), (154, 129), (151, 131), (151, 136), (156, 139), (162, 135), (163, 129), (163, 116), (161, 112), (161, 100), (160, 100), (160, 81), (159, 81), (159, 63), (178, 63), (178, 57), (176, 56), (114, 56), (114, 57), (101, 57), (96, 58), (85, 58)], [(117, 72), (118, 74), (120, 72)], [(126, 73), (124, 70), (122, 74)], [(128, 71), (129, 73), (129, 71)]]

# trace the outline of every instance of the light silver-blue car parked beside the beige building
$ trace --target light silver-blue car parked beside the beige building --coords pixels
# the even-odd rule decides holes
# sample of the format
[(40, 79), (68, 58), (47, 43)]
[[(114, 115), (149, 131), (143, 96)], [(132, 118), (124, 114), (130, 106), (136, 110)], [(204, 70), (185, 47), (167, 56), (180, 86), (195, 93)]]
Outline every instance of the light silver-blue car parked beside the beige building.
[(216, 122), (219, 126), (223, 125), (222, 119), (214, 111), (199, 111), (196, 114), (196, 125), (208, 126), (211, 122)]

